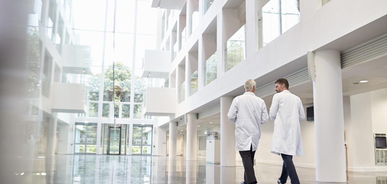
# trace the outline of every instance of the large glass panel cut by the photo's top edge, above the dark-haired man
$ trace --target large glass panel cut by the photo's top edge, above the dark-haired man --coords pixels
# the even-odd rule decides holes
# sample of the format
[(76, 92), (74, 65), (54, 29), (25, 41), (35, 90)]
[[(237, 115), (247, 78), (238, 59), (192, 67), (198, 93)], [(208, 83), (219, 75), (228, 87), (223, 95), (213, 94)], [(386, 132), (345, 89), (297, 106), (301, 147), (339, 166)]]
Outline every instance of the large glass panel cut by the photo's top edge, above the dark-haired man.
[(259, 10), (259, 48), (300, 22), (298, 2), (298, 0), (270, 0)]

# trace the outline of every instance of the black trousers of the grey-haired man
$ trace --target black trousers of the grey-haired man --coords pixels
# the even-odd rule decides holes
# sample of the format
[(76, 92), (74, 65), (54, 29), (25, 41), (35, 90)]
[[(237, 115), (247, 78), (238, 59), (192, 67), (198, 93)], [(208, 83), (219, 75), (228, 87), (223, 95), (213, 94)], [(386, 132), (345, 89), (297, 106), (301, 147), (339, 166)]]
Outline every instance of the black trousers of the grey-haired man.
[(242, 157), (243, 167), (245, 168), (245, 183), (257, 183), (257, 179), (255, 178), (254, 173), (255, 151), (253, 151), (253, 145), (251, 145), (250, 151), (239, 151), (239, 154)]

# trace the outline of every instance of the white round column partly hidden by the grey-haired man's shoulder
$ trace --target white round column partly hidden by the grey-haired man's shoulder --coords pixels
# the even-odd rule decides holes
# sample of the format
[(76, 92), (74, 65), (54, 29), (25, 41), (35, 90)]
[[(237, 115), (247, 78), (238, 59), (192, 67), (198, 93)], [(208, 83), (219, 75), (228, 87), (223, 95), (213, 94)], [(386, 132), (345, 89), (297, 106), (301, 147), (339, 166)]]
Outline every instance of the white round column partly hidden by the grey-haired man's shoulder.
[(235, 124), (227, 116), (234, 97), (220, 97), (220, 165), (235, 167)]

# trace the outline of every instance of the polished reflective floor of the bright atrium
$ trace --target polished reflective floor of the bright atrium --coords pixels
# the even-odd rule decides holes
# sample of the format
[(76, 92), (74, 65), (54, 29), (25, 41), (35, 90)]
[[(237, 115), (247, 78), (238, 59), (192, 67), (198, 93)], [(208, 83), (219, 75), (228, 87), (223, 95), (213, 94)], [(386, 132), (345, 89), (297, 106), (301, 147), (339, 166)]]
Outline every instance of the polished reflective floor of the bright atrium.
[[(221, 167), (183, 157), (169, 159), (157, 156), (118, 155), (56, 155), (36, 158), (41, 170), (25, 173), (34, 184), (235, 184), (243, 180), (243, 167)], [(281, 165), (254, 166), (259, 184), (275, 184)], [(315, 170), (297, 167), (302, 184), (322, 184), (315, 181)], [(348, 184), (385, 184), (387, 172), (348, 172)], [(287, 183), (290, 183), (288, 181)]]

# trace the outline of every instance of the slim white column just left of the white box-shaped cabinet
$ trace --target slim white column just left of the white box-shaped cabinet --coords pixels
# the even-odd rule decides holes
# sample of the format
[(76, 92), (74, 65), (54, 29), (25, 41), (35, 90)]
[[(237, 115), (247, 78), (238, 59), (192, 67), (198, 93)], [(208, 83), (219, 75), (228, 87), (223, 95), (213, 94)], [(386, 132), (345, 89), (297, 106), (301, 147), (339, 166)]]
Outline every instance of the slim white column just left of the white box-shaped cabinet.
[(196, 113), (187, 114), (187, 160), (197, 160), (197, 114)]

